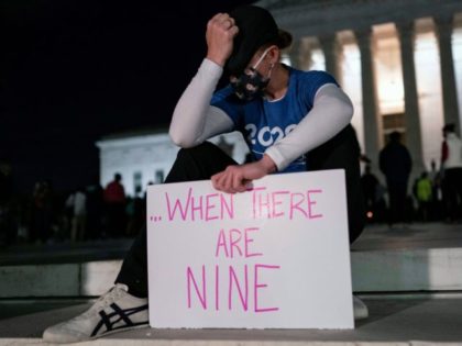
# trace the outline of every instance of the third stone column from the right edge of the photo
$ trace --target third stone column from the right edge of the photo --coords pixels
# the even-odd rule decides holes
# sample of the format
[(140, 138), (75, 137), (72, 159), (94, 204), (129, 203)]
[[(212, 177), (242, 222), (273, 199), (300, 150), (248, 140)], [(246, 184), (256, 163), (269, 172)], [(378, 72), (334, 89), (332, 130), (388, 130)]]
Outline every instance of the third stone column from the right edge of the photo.
[(364, 150), (372, 160), (371, 168), (378, 168), (378, 150), (382, 147), (382, 119), (377, 109), (377, 92), (373, 62), (372, 30), (356, 31), (358, 45), (361, 54), (361, 81), (363, 98)]

